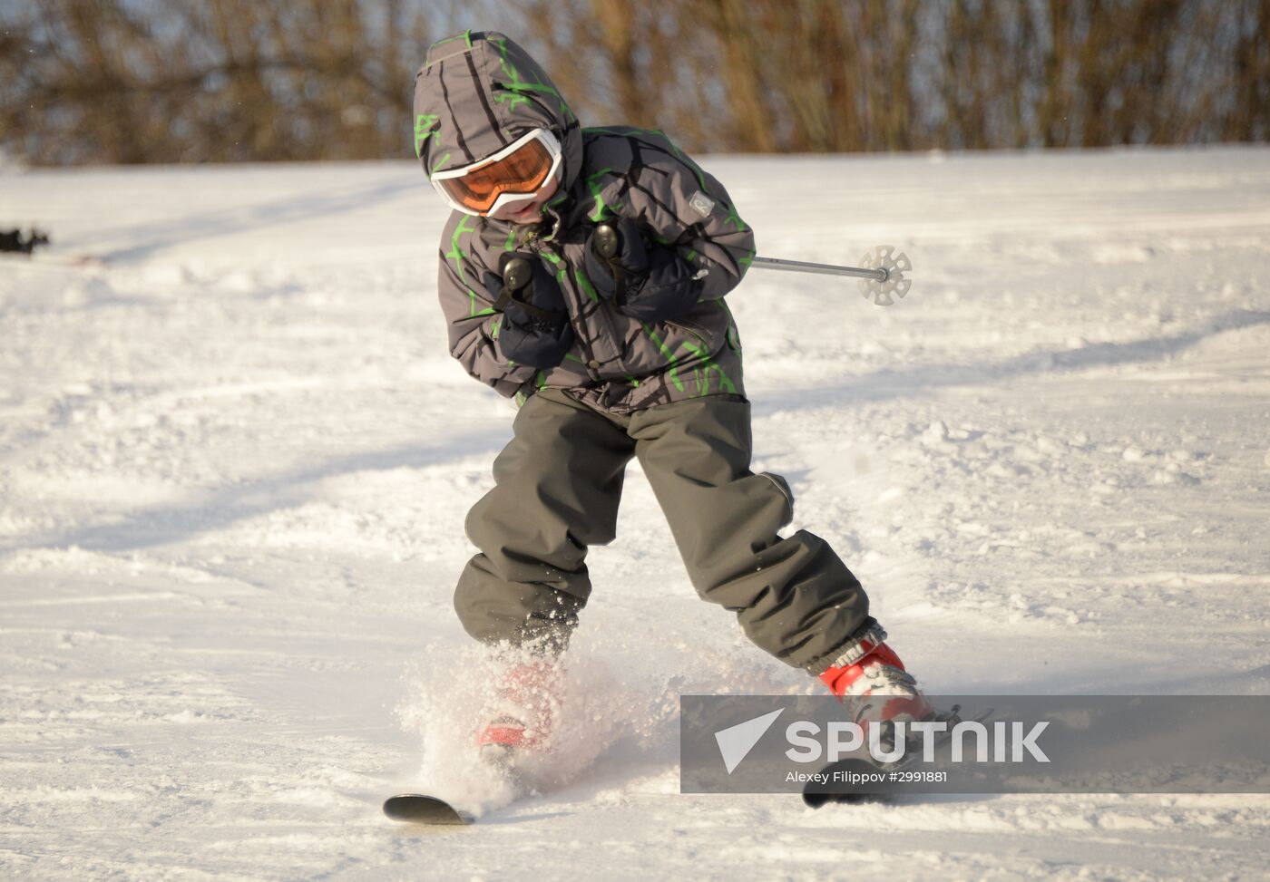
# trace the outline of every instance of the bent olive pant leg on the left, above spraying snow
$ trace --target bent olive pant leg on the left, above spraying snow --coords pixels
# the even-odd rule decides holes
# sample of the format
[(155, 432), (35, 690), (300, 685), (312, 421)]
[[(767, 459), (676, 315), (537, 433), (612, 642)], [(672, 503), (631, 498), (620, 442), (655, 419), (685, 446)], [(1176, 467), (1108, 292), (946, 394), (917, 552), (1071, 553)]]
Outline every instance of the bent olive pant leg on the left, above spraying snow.
[(530, 397), (494, 459), (495, 486), (467, 514), (480, 548), (455, 609), (485, 642), (563, 648), (591, 594), (587, 547), (612, 542), (634, 442), (601, 414), (546, 388)]

